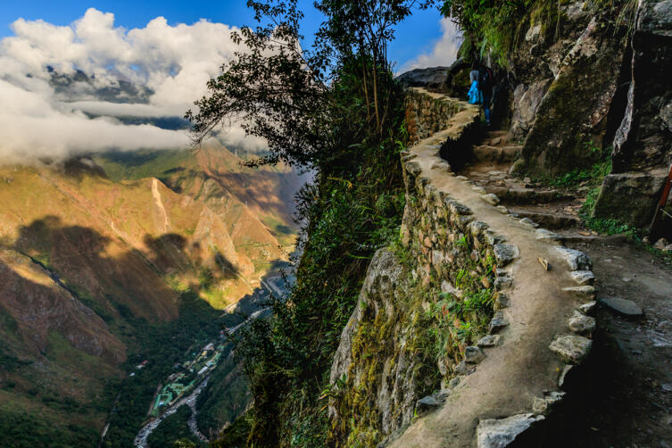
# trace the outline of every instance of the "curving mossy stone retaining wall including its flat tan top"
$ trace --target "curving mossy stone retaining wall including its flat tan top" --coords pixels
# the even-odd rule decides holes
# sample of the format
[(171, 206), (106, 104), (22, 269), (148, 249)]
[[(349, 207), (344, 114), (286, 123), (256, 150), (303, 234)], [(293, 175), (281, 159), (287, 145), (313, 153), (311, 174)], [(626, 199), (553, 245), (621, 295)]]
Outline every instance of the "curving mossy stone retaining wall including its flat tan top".
[(344, 328), (332, 430), (347, 445), (506, 446), (590, 351), (591, 263), (451, 172), (440, 154), (476, 129), (475, 107), (419, 89), (409, 104), (415, 136), (444, 128), (402, 153), (401, 247), (378, 251)]

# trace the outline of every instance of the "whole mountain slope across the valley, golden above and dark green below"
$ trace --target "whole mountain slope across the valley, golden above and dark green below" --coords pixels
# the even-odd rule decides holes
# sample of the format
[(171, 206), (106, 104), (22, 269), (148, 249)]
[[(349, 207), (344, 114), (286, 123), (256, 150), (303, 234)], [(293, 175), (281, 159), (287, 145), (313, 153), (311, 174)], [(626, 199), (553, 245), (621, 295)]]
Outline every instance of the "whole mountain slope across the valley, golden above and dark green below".
[[(210, 151), (0, 167), (0, 434), (16, 446), (91, 445), (112, 402), (136, 410), (110, 430), (132, 440), (188, 335), (218, 335), (217, 310), (292, 250), (291, 195), (261, 195), (300, 179)], [(183, 307), (189, 291), (201, 304)], [(124, 379), (143, 359), (151, 374)]]

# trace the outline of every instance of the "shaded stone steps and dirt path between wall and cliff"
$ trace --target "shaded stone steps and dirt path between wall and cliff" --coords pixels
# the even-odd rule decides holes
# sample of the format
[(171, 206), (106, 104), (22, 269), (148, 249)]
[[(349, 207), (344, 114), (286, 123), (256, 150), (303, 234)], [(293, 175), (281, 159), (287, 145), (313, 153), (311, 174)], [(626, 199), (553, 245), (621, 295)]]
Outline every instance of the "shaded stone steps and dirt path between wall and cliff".
[[(578, 218), (588, 187), (563, 195), (509, 174), (515, 145), (492, 131), (458, 174), (590, 255), (597, 330), (583, 384), (560, 411), (548, 446), (672, 448), (672, 271), (625, 237), (597, 236)], [(510, 148), (504, 151), (503, 148)], [(515, 155), (515, 154), (514, 154)]]

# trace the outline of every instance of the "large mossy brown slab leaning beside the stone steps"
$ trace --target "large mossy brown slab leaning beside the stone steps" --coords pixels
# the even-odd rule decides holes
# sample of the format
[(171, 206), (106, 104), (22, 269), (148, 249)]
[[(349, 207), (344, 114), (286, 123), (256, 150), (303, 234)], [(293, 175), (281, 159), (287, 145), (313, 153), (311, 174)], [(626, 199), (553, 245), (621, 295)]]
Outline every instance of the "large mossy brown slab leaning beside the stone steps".
[[(585, 144), (604, 133), (624, 49), (607, 21), (593, 17), (562, 58), (535, 110), (535, 122), (523, 147), (530, 169), (557, 173), (590, 164), (593, 154)], [(542, 87), (537, 88), (541, 91)]]

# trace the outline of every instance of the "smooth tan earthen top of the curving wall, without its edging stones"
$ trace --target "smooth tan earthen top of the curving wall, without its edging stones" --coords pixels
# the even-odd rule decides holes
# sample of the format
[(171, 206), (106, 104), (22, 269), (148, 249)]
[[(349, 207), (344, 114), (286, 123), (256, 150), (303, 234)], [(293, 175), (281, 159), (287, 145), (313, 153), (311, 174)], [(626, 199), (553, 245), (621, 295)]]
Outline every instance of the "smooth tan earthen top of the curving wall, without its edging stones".
[[(462, 113), (451, 120), (453, 128), (459, 129), (463, 120), (469, 120), (469, 114), (460, 116)], [(451, 132), (456, 131), (439, 132), (414, 146), (413, 162), (419, 163), (419, 177), (428, 178), (437, 190), (467, 205), (478, 220), (504, 236), (507, 244), (518, 246), (518, 260), (507, 266), (514, 278), (510, 307), (503, 311), (510, 325), (502, 331), (502, 344), (487, 352), (485, 361), (460, 381), (444, 406), (417, 420), (393, 442), (392, 446), (400, 448), (475, 446), (480, 419), (531, 412), (535, 397), (558, 390), (563, 362), (548, 347), (555, 336), (568, 334), (568, 318), (579, 304), (562, 290), (575, 284), (567, 261), (554, 245), (536, 239), (534, 228), (486, 203), (469, 182), (436, 169), (441, 162), (436, 147), (452, 137)], [(538, 257), (547, 259), (555, 269), (543, 270)]]

